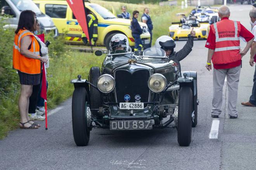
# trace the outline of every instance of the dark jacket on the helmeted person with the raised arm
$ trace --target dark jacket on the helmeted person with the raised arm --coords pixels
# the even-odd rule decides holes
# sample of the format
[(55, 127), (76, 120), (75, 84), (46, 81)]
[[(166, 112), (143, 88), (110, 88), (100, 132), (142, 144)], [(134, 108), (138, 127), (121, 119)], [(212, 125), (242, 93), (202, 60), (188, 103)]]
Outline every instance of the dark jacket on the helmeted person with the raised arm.
[(174, 51), (168, 57), (169, 60), (173, 60), (175, 63), (177, 63), (179, 65), (179, 69), (180, 69), (180, 61), (189, 55), (189, 53), (192, 51), (192, 47), (194, 45), (194, 37), (190, 36), (190, 34), (188, 37), (189, 37), (189, 39), (187, 40), (187, 43), (185, 44), (185, 46), (178, 52)]

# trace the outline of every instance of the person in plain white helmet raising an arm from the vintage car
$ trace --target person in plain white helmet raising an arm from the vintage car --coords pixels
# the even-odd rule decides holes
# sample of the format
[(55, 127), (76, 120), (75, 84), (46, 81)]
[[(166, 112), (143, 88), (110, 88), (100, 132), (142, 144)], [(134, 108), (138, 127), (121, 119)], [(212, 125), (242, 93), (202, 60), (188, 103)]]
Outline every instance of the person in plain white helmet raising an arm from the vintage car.
[(165, 51), (166, 56), (170, 60), (173, 60), (179, 64), (180, 63), (179, 61), (184, 59), (192, 51), (192, 47), (194, 45), (194, 37), (195, 37), (195, 31), (192, 28), (190, 34), (188, 35), (188, 40), (185, 46), (180, 51), (175, 52), (174, 48), (176, 44), (174, 40), (169, 36), (161, 36), (156, 40), (156, 48), (162, 48)]

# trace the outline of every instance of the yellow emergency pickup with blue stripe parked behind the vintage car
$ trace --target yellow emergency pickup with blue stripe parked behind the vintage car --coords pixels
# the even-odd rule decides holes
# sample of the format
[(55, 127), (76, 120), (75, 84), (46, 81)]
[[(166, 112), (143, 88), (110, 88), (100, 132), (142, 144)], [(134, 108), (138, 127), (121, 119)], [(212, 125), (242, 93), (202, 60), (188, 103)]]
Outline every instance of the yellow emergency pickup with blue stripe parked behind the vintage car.
[[(82, 29), (75, 19), (73, 12), (65, 0), (33, 0), (40, 10), (49, 15), (54, 21), (59, 34), (67, 31), (67, 41), (72, 43), (83, 43)], [(112, 12), (96, 3), (85, 2), (86, 11), (92, 12), (98, 19), (98, 40), (97, 46), (109, 47), (109, 41), (115, 34), (125, 34), (130, 42), (130, 46), (135, 46), (135, 41), (131, 35), (131, 20), (117, 18)], [(142, 42), (149, 44), (150, 34), (147, 24), (139, 22), (143, 29), (141, 34)]]

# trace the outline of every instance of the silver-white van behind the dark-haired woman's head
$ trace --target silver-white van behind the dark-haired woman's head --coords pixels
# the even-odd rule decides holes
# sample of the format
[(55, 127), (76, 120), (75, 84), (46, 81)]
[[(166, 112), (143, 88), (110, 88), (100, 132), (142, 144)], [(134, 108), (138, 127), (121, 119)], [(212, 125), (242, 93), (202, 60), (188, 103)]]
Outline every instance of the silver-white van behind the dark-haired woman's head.
[(16, 29), (21, 11), (32, 10), (36, 13), (36, 18), (40, 22), (42, 32), (48, 33), (53, 31), (55, 36), (58, 35), (57, 28), (52, 19), (48, 15), (43, 14), (32, 0), (0, 0), (0, 9), (1, 15), (7, 14), (12, 16), (7, 19), (8, 25), (5, 25), (5, 28), (11, 27)]

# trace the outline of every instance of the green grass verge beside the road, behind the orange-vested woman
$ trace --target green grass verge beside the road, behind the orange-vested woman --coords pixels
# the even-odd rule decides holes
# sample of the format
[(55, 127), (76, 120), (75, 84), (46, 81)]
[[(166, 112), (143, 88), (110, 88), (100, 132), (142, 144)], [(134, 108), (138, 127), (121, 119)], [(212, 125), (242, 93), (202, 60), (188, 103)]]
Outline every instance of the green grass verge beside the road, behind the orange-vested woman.
[[(67, 51), (59, 58), (50, 58), (50, 67), (47, 69), (48, 107), (53, 108), (70, 97), (74, 90), (70, 80), (77, 78), (78, 74), (87, 78), (90, 68), (101, 66), (103, 59), (104, 56), (97, 57), (92, 53), (78, 51)], [(18, 74), (16, 79), (19, 79)], [(16, 129), (19, 123), (19, 85), (12, 86), (10, 83), (10, 88), (14, 90), (10, 90), (5, 98), (0, 99), (0, 139), (4, 138), (8, 131)]]

